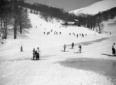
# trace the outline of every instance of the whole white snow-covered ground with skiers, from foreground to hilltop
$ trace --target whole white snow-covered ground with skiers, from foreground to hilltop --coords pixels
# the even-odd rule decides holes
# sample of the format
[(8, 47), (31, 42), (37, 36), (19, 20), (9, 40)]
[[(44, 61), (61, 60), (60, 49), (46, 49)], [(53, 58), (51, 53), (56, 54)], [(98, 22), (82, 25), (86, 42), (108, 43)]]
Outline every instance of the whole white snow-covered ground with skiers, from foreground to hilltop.
[[(79, 63), (80, 58), (116, 61), (111, 54), (112, 43), (116, 42), (116, 25), (107, 25), (105, 22), (105, 30), (112, 32), (110, 35), (98, 34), (83, 27), (61, 26), (61, 22), (56, 20), (46, 22), (39, 15), (29, 14), (29, 18), (32, 28), (25, 34), (25, 38), (9, 38), (5, 44), (0, 45), (0, 85), (116, 84), (116, 76), (112, 80), (111, 76), (103, 75), (102, 72), (60, 63), (71, 59), (77, 59), (76, 63)], [(82, 37), (82, 33), (86, 36)], [(74, 49), (71, 49), (72, 42), (76, 44)], [(78, 53), (79, 43), (82, 44), (82, 53)], [(66, 52), (63, 52), (64, 44), (67, 45)], [(24, 52), (20, 52), (20, 46), (23, 46)], [(33, 61), (32, 50), (37, 47), (40, 48), (40, 60)], [(116, 70), (116, 66), (113, 70)]]

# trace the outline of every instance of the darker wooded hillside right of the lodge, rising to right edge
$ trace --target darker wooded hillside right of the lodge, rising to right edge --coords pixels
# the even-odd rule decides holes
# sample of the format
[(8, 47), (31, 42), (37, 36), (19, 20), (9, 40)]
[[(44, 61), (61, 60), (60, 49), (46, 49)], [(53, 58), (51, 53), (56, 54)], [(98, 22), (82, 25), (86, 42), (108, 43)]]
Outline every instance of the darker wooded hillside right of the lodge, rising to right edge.
[(78, 16), (79, 22), (77, 22), (76, 25), (84, 26), (92, 30), (95, 30), (96, 27), (98, 27), (98, 32), (101, 33), (101, 23), (103, 21), (113, 19), (114, 17), (116, 17), (116, 7), (103, 12), (99, 12), (95, 15), (81, 14)]

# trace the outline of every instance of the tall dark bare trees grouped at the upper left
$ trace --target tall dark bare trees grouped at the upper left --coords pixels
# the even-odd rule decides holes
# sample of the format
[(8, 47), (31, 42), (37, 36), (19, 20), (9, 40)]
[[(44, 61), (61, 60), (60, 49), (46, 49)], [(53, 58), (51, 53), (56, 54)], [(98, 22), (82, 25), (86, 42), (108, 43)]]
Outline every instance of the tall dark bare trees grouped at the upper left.
[(0, 34), (2, 39), (7, 39), (9, 25), (13, 27), (14, 39), (17, 32), (23, 33), (23, 29), (31, 27), (27, 10), (23, 9), (19, 3), (24, 0), (0, 0)]

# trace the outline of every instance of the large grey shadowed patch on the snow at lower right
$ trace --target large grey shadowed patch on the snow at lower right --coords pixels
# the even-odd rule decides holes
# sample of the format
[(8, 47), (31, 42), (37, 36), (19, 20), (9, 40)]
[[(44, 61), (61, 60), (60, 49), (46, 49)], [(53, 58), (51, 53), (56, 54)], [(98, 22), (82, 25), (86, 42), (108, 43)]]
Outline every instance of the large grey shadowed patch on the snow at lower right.
[(75, 69), (94, 71), (110, 77), (116, 84), (116, 61), (92, 58), (72, 58), (59, 62), (63, 66)]

